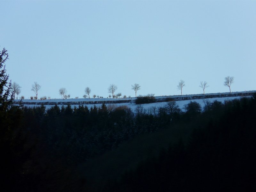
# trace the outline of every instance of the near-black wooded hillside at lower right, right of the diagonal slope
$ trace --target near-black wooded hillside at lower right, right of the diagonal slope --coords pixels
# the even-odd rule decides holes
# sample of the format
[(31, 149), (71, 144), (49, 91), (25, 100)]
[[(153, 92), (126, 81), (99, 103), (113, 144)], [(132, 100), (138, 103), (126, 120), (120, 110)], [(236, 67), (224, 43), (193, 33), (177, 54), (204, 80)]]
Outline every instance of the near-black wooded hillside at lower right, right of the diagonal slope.
[(255, 191), (256, 95), (206, 102), (200, 115), (196, 108), (184, 114), (188, 142), (172, 143), (103, 191)]

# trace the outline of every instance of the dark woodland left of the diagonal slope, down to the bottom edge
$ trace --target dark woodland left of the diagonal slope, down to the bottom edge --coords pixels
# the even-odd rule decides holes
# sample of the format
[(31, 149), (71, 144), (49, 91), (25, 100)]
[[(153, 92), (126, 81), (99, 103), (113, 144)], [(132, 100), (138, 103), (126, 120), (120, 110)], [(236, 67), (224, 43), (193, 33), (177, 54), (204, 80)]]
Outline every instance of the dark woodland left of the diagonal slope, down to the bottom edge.
[(47, 110), (44, 105), (10, 104), (1, 116), (3, 183), (9, 191), (54, 191), (67, 185), (79, 188), (79, 178), (72, 180), (77, 175), (72, 167), (135, 135), (156, 132), (174, 116), (165, 109), (160, 116), (140, 109), (134, 114), (126, 106), (107, 108), (104, 103), (100, 108), (55, 105)]

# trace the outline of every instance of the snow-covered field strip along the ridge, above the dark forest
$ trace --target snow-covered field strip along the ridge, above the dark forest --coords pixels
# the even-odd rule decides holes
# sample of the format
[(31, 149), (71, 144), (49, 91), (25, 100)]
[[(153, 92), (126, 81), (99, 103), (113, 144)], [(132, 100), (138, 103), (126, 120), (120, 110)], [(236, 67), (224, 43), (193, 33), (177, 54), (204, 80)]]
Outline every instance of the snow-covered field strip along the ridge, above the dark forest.
[[(247, 91), (247, 92), (233, 92), (231, 95), (241, 95), (241, 94), (250, 94), (254, 93), (256, 91)], [(251, 97), (251, 96), (233, 96), (233, 97), (227, 97), (229, 93), (208, 93), (208, 94), (197, 94), (197, 95), (182, 95), (182, 96), (157, 96), (155, 97), (157, 100), (162, 100), (165, 98), (175, 98), (177, 104), (179, 105), (180, 109), (184, 111), (184, 106), (187, 105), (190, 101), (196, 101), (201, 105), (201, 107), (204, 107), (204, 100), (209, 100), (210, 102), (214, 100), (221, 101), (222, 103), (225, 102), (225, 100), (233, 100), (233, 99), (240, 99), (241, 97)], [(213, 98), (204, 98), (204, 99), (192, 99), (197, 98), (201, 96), (211, 96)], [(214, 97), (216, 96), (216, 97)], [(221, 97), (223, 96), (223, 97)], [(191, 99), (189, 99), (191, 98)], [(131, 108), (132, 111), (136, 111), (136, 108), (138, 107), (137, 104), (135, 104), (136, 98), (118, 98), (118, 99), (111, 99), (111, 98), (91, 98), (91, 99), (84, 99), (84, 98), (78, 98), (78, 99), (51, 99), (51, 100), (23, 100), (23, 103), (27, 107), (38, 107), (40, 104), (45, 104), (46, 109), (53, 107), (55, 104), (58, 106), (62, 105), (68, 105), (70, 104), (72, 108), (75, 106), (78, 107), (79, 105), (83, 104), (86, 105), (88, 108), (93, 107), (96, 105), (96, 107), (100, 107), (102, 105), (102, 102), (106, 102), (107, 107), (109, 105), (114, 105), (116, 107), (126, 105), (127, 107)], [(17, 104), (19, 100), (15, 100), (15, 103)], [(86, 102), (86, 104), (85, 104)], [(150, 104), (141, 104), (143, 109), (148, 111), (148, 109), (152, 107), (164, 107), (167, 102), (156, 102), (156, 103), (150, 103)]]

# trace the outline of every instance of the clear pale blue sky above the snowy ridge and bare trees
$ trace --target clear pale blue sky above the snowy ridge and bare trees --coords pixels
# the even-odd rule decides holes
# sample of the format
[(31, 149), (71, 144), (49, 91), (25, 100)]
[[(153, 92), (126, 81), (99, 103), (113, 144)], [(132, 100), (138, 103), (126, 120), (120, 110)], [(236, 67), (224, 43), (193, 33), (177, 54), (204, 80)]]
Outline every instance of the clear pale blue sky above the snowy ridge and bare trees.
[(25, 99), (256, 90), (256, 1), (0, 0), (0, 50)]

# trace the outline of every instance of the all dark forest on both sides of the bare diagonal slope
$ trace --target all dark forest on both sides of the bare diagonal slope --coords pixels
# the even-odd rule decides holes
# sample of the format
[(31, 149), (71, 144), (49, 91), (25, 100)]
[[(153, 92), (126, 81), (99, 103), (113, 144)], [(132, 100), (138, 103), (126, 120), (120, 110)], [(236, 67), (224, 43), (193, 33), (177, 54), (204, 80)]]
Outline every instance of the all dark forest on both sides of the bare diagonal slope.
[(135, 135), (182, 123), (194, 130), (188, 142), (173, 143), (103, 191), (256, 189), (256, 96), (205, 102), (203, 113), (192, 101), (185, 113), (175, 102), (154, 110), (11, 105), (1, 115), (2, 181), (8, 191), (79, 191), (86, 179), (74, 171), (77, 164)]

